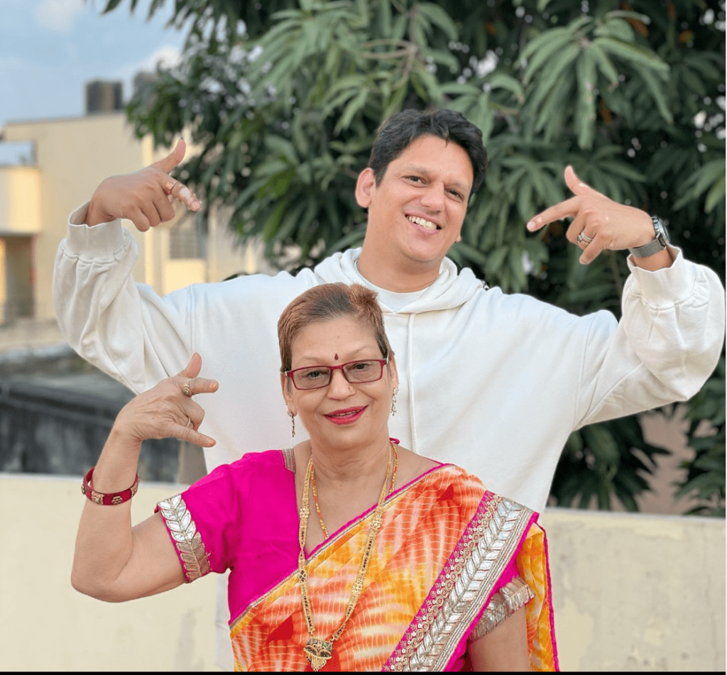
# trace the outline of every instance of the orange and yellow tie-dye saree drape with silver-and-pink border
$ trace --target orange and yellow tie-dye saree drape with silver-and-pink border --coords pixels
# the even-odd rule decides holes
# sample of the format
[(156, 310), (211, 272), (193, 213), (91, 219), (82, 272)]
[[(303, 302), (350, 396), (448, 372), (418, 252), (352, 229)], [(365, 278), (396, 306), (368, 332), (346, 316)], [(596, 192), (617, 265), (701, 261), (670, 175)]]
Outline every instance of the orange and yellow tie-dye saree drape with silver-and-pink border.
[[(294, 505), (294, 494), (292, 501)], [(169, 501), (160, 504), (163, 514), (165, 505), (169, 512)], [(200, 509), (190, 511), (196, 520)], [(342, 622), (372, 516), (369, 509), (307, 557), (317, 637), (329, 639)], [(518, 573), (534, 596), (526, 604), (531, 667), (557, 670), (547, 544), (536, 518), (531, 510), (488, 492), (477, 478), (447, 464), (396, 490), (385, 501), (364, 591), (322, 672), (471, 669), (467, 639), (495, 592)], [(165, 520), (169, 527), (166, 516)], [(260, 525), (265, 527), (264, 522)], [(203, 525), (198, 533), (200, 546), (206, 546), (205, 530)], [(294, 532), (286, 526), (276, 529), (284, 538)], [(294, 541), (281, 549), (281, 557), (296, 548)], [(204, 564), (207, 552), (197, 551), (196, 559)], [(190, 560), (189, 551), (187, 557)], [(196, 569), (196, 563), (185, 563), (181, 553), (180, 559), (185, 576), (188, 567)], [(265, 559), (276, 564), (266, 556), (261, 565)], [(254, 570), (233, 566), (230, 637), (236, 670), (310, 671), (303, 654), (308, 631), (294, 559), (286, 570), (276, 583), (250, 594), (241, 607), (233, 576)]]

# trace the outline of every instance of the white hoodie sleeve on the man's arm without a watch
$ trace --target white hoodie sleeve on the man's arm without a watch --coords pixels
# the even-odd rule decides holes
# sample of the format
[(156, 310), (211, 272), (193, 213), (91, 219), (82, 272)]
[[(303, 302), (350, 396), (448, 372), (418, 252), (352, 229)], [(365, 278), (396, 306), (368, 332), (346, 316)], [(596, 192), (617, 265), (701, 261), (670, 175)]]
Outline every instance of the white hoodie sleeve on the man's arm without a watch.
[(57, 320), (76, 352), (139, 393), (179, 372), (193, 353), (193, 287), (160, 298), (134, 283), (139, 249), (132, 235), (119, 220), (84, 225), (87, 209), (71, 214), (56, 254)]

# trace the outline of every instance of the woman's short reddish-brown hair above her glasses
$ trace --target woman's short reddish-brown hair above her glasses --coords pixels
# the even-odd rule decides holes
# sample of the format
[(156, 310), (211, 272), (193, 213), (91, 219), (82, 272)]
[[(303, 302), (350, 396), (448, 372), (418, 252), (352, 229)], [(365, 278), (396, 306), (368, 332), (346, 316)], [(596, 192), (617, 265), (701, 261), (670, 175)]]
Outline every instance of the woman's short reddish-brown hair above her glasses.
[(384, 358), (393, 354), (384, 330), (384, 317), (371, 288), (352, 283), (324, 283), (297, 296), (278, 320), (281, 372), (292, 368), (292, 345), (300, 331), (317, 321), (351, 317), (368, 328)]

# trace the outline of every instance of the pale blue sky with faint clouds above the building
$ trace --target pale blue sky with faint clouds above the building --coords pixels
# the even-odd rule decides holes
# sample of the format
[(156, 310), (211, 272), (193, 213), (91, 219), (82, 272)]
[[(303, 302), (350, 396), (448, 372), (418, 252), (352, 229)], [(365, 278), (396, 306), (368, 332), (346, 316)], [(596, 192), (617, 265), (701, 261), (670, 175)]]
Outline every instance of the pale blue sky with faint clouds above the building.
[(101, 15), (106, 0), (0, 0), (0, 128), (9, 121), (84, 114), (85, 84), (124, 83), (138, 70), (174, 65), (185, 33), (165, 28), (173, 0), (150, 23), (150, 0), (129, 0)]

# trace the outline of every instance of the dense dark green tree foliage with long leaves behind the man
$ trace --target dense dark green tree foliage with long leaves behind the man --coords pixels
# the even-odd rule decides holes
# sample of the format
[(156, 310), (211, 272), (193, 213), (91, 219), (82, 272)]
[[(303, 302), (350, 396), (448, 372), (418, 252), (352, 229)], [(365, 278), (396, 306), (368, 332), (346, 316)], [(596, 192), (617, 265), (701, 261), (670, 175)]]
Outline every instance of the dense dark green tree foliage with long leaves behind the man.
[[(149, 15), (163, 5), (152, 0)], [(505, 291), (619, 315), (622, 253), (582, 266), (562, 223), (537, 235), (524, 225), (568, 196), (570, 163), (609, 197), (664, 217), (686, 256), (724, 283), (724, 19), (723, 3), (701, 0), (175, 0), (182, 62), (128, 113), (158, 144), (190, 129), (203, 150), (180, 178), (208, 206), (231, 206), (241, 241), (262, 238), (271, 259), (299, 247), (301, 267), (363, 241), (353, 187), (385, 117), (460, 110), (483, 132), (490, 168), (452, 259)], [(721, 368), (704, 391), (724, 384)], [(724, 416), (705, 396), (688, 414), (710, 413), (718, 447), (697, 442), (694, 425), (681, 491), (709, 504), (721, 494), (723, 508)], [(661, 452), (636, 419), (574, 432), (553, 497), (635, 509)], [(698, 480), (720, 462), (720, 485)]]

